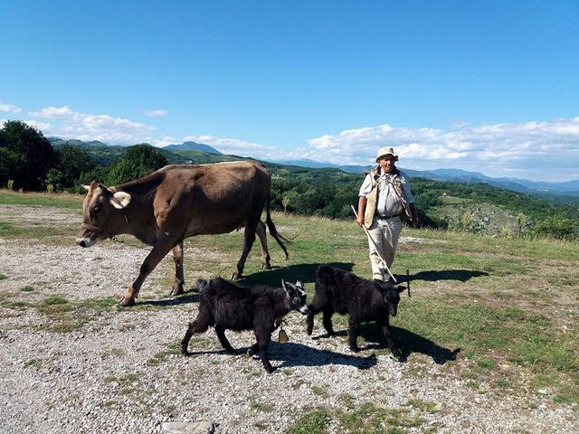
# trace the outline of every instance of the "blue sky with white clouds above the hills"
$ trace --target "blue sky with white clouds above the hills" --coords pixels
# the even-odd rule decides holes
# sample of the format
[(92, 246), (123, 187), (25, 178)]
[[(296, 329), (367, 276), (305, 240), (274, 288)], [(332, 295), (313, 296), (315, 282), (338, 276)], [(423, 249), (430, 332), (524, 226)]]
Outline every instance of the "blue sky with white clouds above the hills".
[(31, 1), (0, 122), (44, 136), (579, 179), (579, 1)]

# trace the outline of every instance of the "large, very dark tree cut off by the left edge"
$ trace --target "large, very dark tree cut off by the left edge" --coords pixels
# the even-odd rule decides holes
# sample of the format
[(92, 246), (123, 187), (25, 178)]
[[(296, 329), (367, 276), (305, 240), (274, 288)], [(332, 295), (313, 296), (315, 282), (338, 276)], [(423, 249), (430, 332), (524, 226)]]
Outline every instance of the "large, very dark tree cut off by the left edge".
[(38, 129), (9, 120), (0, 129), (0, 185), (14, 180), (15, 189), (43, 191), (46, 175), (58, 165), (51, 143)]

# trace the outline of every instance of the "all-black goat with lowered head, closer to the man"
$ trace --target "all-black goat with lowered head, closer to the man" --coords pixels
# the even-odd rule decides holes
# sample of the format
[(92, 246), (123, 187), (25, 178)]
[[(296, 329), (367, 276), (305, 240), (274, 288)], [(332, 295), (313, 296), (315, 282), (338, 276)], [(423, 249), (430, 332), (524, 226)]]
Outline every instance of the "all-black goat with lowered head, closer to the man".
[(358, 352), (358, 329), (362, 321), (375, 321), (382, 329), (386, 344), (394, 357), (402, 360), (400, 350), (394, 344), (390, 331), (389, 316), (396, 316), (400, 293), (404, 287), (394, 287), (392, 282), (370, 281), (358, 278), (343, 269), (325, 265), (318, 268), (314, 299), (308, 305), (308, 335), (314, 328), (314, 316), (323, 312), (323, 324), (327, 334), (335, 335), (332, 328), (334, 312), (349, 315), (349, 345)]

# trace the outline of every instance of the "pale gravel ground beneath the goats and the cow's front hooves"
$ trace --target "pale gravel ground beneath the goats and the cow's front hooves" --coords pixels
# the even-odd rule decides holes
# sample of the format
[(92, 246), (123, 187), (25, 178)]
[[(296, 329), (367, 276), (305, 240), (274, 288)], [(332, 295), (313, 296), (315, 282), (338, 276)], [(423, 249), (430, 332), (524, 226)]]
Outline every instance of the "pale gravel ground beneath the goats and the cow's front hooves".
[[(43, 214), (54, 222), (79, 220), (73, 212)], [(0, 222), (37, 218), (34, 210), (0, 206)], [(182, 357), (178, 343), (195, 317), (196, 294), (168, 297), (160, 282), (172, 272), (169, 258), (141, 290), (138, 304), (147, 307), (108, 307), (86, 318), (47, 315), (38, 306), (48, 297), (87, 311), (94, 311), (89, 299), (119, 297), (147, 254), (111, 241), (81, 249), (73, 237), (0, 239), (1, 433), (278, 433), (313, 409), (347, 414), (365, 402), (412, 421), (396, 432), (579, 432), (578, 410), (556, 404), (548, 392), (471, 387), (461, 375), (470, 362), (461, 354), (450, 360), (451, 348), (410, 354), (407, 363), (378, 351), (377, 342), (352, 354), (346, 335), (327, 339), (318, 318), (306, 335), (297, 312), (286, 317), (289, 343), (271, 344), (278, 368), (272, 374), (245, 354), (224, 354), (213, 330), (194, 337), (194, 355)], [(228, 335), (235, 347), (252, 344), (250, 333)], [(392, 428), (387, 423), (384, 432)], [(344, 427), (334, 417), (327, 430)]]

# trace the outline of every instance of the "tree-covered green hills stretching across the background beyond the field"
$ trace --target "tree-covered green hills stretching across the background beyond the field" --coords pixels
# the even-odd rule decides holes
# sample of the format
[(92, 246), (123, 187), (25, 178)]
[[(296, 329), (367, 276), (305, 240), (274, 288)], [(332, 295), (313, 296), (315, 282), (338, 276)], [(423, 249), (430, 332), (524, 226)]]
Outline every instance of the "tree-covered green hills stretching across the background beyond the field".
[[(233, 161), (198, 150), (159, 149), (147, 144), (108, 146), (100, 142), (50, 140), (24, 122), (0, 130), (0, 187), (24, 191), (83, 193), (96, 180), (117, 185), (167, 164)], [(272, 175), (274, 210), (333, 219), (353, 219), (351, 206), (363, 174), (338, 168), (306, 168), (264, 162)], [(422, 226), (504, 236), (579, 238), (579, 200), (557, 203), (485, 183), (411, 177)]]

